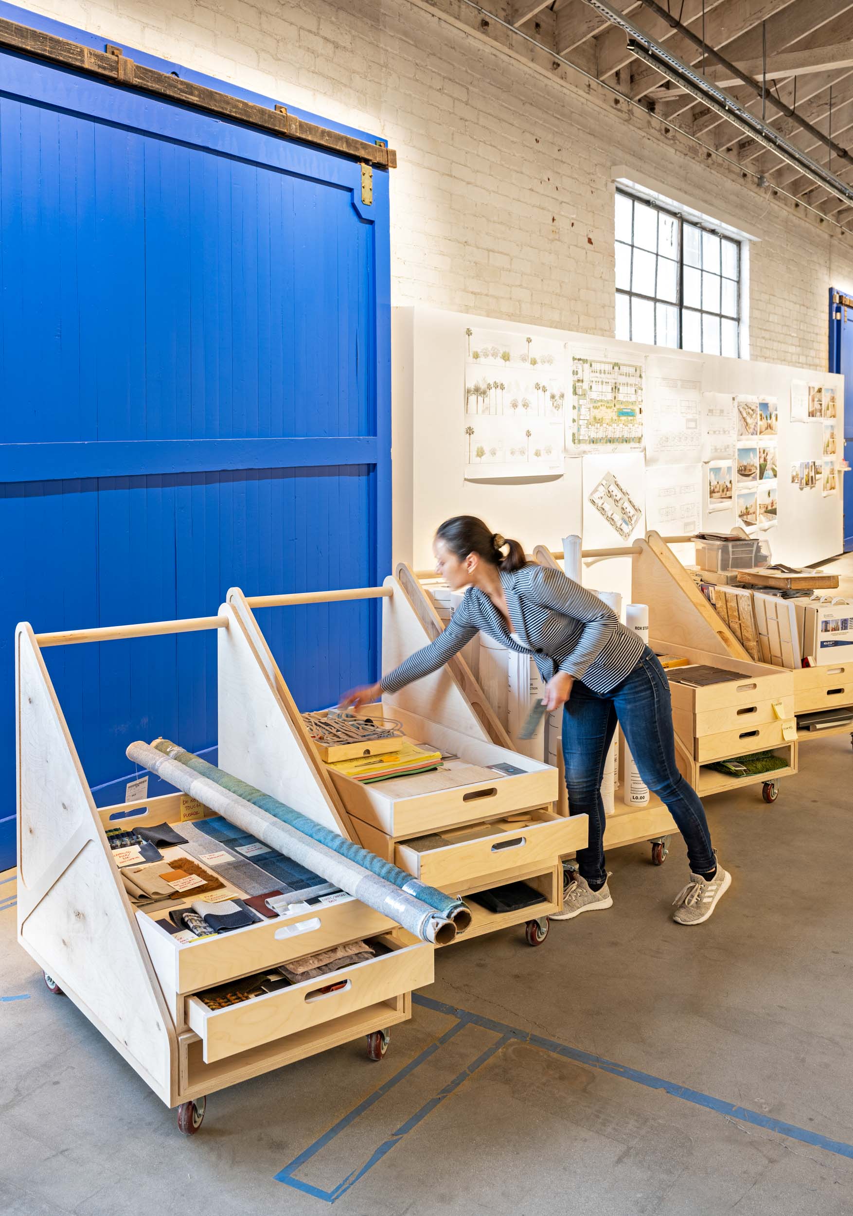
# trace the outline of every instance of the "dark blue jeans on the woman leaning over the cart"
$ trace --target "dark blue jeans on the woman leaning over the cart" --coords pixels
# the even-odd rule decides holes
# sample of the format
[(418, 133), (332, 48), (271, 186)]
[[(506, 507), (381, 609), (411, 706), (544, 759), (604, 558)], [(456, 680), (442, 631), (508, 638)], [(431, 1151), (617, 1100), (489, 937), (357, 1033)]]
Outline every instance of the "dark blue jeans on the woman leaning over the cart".
[(604, 867), (604, 761), (618, 721), (640, 777), (678, 824), (688, 846), (690, 869), (705, 874), (717, 860), (705, 809), (676, 765), (670, 683), (654, 653), (639, 663), (612, 692), (599, 696), (580, 680), (563, 711), (563, 760), (569, 814), (589, 816), (589, 843), (577, 854), (581, 876), (593, 886), (608, 877)]

